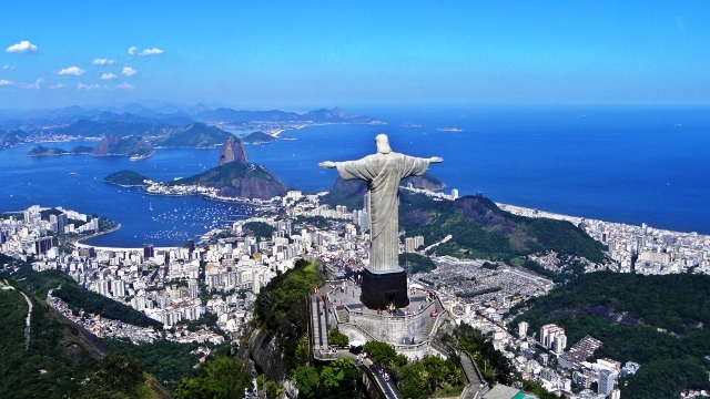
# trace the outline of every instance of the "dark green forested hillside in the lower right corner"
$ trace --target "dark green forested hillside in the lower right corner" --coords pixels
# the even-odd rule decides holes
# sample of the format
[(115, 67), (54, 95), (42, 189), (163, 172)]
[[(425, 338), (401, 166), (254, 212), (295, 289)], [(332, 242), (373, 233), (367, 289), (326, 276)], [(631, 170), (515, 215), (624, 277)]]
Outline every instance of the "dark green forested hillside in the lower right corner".
[(625, 398), (710, 388), (710, 276), (586, 274), (513, 313), (521, 314), (511, 327), (525, 320), (535, 332), (555, 323), (570, 346), (591, 335), (604, 342), (595, 357), (641, 365), (621, 382)]

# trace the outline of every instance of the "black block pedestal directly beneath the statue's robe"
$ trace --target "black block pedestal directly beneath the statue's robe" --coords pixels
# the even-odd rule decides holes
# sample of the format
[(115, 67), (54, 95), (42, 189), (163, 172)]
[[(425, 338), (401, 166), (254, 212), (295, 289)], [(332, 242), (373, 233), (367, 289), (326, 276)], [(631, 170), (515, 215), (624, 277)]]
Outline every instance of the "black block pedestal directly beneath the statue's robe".
[(366, 267), (362, 276), (361, 301), (369, 309), (385, 310), (392, 303), (397, 308), (409, 306), (407, 272), (402, 267), (393, 272), (373, 272)]

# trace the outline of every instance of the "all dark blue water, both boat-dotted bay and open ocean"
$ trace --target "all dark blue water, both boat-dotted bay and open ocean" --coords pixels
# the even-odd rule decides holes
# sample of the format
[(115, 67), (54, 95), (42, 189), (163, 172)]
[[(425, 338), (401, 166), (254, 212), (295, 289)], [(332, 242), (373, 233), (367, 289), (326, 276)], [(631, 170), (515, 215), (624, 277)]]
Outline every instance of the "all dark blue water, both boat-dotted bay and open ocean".
[[(394, 151), (443, 156), (444, 163), (433, 165), (430, 173), (448, 185), (447, 191), (455, 187), (462, 195), (480, 191), (496, 202), (710, 234), (710, 109), (479, 108), (366, 113), (388, 124), (287, 131), (282, 136), (297, 140), (247, 145), (250, 161), (263, 164), (291, 187), (328, 190), (336, 172), (316, 164), (373, 153), (374, 136), (385, 132)], [(403, 127), (403, 122), (422, 127)], [(448, 125), (464, 131), (436, 130)], [(145, 196), (101, 182), (122, 168), (155, 180), (189, 176), (214, 166), (219, 149), (159, 150), (149, 160), (130, 162), (92, 156), (28, 158), (24, 154), (31, 146), (0, 152), (0, 211), (61, 205), (123, 224), (121, 231), (95, 238), (94, 245), (181, 245), (186, 236), (206, 231), (205, 226), (237, 217), (236, 209), (230, 211), (226, 204)], [(183, 215), (189, 216), (182, 219)]]

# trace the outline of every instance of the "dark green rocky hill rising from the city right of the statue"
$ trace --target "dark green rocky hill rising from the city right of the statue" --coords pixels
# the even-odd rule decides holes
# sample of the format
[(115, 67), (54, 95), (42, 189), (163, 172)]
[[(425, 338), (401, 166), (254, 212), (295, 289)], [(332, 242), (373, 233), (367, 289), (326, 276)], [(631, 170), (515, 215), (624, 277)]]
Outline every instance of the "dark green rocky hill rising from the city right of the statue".
[(456, 201), (433, 201), (403, 192), (399, 228), (407, 236), (423, 235), (437, 255), (511, 262), (513, 258), (554, 250), (560, 255), (604, 260), (604, 245), (569, 222), (517, 216), (501, 211), (493, 201), (464, 196)]

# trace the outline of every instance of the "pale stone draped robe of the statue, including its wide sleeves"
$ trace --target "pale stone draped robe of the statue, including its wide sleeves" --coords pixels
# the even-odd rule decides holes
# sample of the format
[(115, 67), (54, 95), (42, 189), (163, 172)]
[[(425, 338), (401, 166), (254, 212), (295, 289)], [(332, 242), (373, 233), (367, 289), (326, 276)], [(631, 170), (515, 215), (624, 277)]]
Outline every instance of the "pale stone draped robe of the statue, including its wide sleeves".
[(428, 158), (390, 152), (367, 155), (362, 160), (336, 162), (344, 180), (367, 182), (369, 206), (369, 269), (376, 273), (399, 269), (399, 181), (420, 176), (429, 166)]

